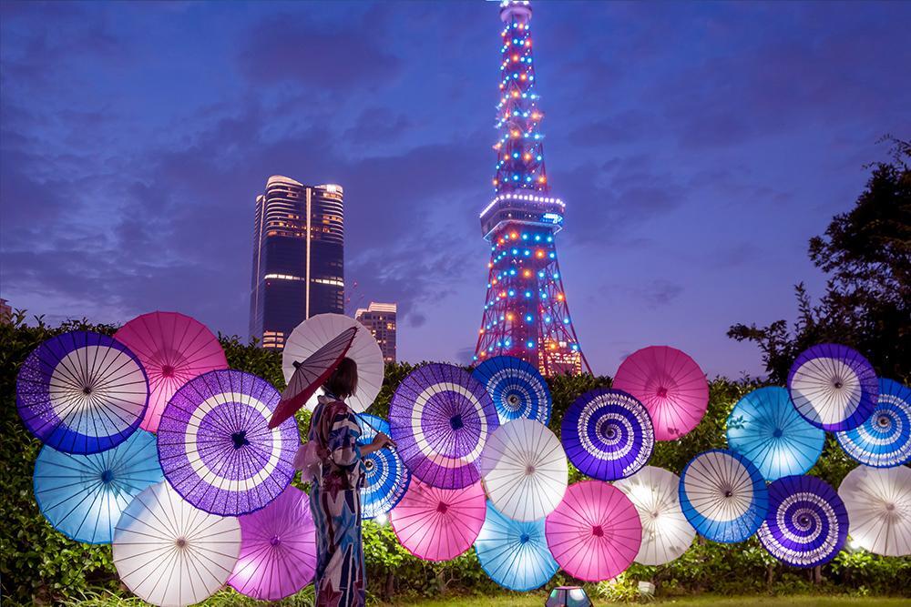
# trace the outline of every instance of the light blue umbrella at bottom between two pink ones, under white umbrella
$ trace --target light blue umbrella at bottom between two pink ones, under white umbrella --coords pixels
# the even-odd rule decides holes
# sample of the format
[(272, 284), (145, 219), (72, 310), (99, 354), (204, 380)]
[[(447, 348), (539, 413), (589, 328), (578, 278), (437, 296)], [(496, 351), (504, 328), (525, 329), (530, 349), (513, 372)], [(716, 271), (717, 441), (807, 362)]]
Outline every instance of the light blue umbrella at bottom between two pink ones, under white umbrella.
[(548, 548), (544, 521), (513, 521), (487, 501), (487, 515), (475, 541), (477, 560), (490, 579), (519, 592), (546, 584), (559, 569)]

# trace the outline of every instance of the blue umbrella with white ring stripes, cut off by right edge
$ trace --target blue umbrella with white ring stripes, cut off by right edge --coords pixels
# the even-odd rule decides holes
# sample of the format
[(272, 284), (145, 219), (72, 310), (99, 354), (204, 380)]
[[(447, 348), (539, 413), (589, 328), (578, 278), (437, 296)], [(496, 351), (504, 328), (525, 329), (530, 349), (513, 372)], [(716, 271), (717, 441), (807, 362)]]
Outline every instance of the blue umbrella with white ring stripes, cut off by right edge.
[(892, 379), (879, 380), (873, 414), (854, 430), (835, 432), (844, 452), (874, 468), (911, 460), (911, 389)]

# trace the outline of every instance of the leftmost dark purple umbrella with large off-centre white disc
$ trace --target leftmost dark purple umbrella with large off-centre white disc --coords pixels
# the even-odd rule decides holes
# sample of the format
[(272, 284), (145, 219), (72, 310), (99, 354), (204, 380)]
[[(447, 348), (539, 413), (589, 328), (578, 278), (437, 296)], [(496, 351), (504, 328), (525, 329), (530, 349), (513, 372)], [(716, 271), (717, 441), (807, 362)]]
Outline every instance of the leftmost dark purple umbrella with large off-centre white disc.
[(120, 342), (90, 331), (47, 339), (19, 369), (15, 406), (58, 451), (97, 453), (127, 440), (148, 404), (148, 379)]

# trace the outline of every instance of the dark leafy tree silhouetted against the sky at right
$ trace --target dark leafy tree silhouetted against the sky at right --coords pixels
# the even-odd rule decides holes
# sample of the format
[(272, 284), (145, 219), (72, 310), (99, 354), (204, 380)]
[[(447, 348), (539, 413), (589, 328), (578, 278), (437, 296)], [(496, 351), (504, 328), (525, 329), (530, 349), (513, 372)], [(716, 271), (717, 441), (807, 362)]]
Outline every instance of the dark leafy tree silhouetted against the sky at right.
[(884, 140), (891, 161), (868, 165), (873, 172), (855, 207), (810, 239), (810, 259), (829, 275), (819, 303), (800, 283), (793, 329), (776, 320), (728, 330), (759, 345), (772, 381), (783, 383), (797, 354), (826, 341), (859, 350), (882, 377), (911, 380), (911, 143)]

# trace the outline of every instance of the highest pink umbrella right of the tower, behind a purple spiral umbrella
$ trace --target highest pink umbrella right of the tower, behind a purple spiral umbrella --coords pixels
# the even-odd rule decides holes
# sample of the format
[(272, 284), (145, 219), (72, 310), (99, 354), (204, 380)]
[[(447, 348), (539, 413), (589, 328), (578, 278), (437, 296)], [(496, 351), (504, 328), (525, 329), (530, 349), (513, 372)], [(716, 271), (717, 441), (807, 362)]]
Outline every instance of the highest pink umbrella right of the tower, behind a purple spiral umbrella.
[(613, 389), (629, 392), (649, 410), (656, 440), (677, 440), (699, 425), (709, 406), (705, 373), (685, 352), (650, 346), (630, 354)]

